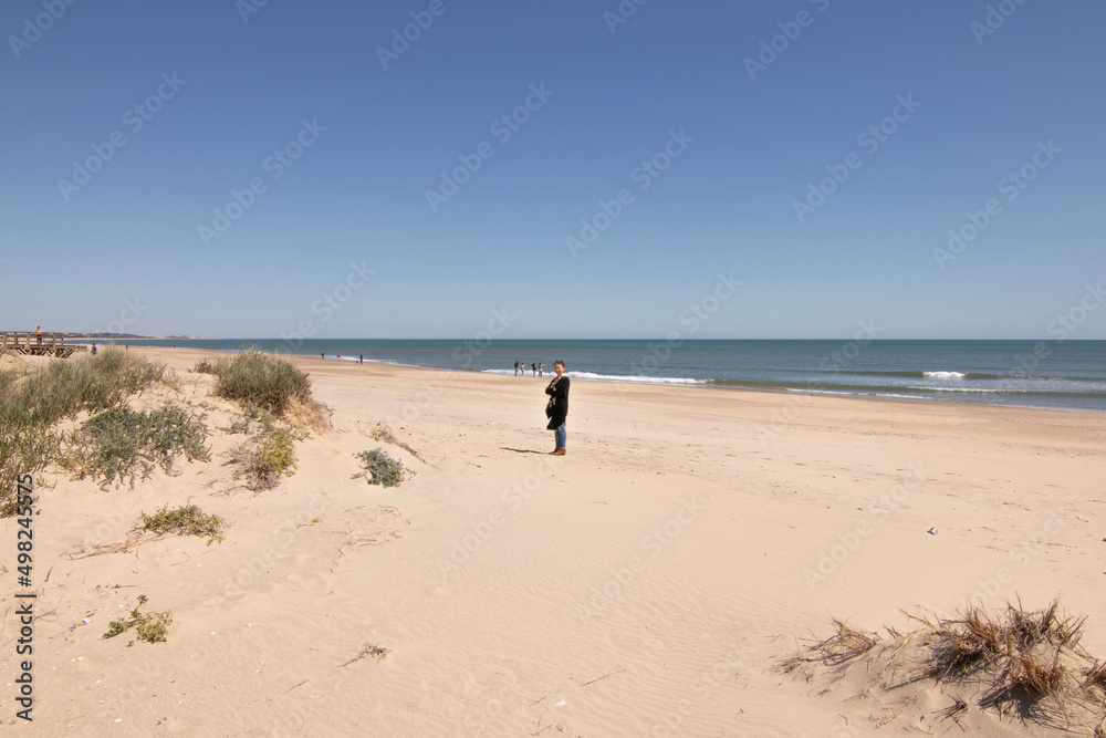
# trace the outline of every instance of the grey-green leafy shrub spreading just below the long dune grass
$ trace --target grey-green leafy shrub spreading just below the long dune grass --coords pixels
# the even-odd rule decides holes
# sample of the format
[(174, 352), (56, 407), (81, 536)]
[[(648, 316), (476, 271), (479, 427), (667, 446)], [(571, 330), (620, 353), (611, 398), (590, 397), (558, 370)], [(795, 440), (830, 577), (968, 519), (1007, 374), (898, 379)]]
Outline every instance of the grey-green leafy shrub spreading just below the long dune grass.
[(102, 489), (124, 481), (134, 489), (135, 480), (148, 479), (156, 467), (171, 474), (180, 456), (209, 460), (206, 438), (204, 420), (180, 407), (136, 412), (121, 405), (63, 435), (66, 450), (60, 464), (79, 479), (102, 479)]

